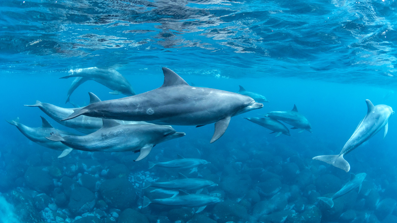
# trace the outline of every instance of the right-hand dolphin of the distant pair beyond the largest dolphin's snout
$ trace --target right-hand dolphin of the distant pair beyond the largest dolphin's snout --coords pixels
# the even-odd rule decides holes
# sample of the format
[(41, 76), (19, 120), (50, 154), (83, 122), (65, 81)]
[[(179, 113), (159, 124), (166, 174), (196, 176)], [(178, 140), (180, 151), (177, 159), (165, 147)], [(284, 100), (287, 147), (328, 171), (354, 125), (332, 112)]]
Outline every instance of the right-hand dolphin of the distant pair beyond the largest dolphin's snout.
[(297, 106), (294, 104), (294, 108), (291, 111), (285, 112), (268, 112), (266, 117), (277, 119), (283, 121), (289, 125), (292, 125), (293, 128), (291, 129), (301, 129), (299, 133), (302, 133), (305, 129), (312, 133), (312, 126), (310, 125), (309, 121), (307, 121), (306, 117), (301, 115), (298, 112)]

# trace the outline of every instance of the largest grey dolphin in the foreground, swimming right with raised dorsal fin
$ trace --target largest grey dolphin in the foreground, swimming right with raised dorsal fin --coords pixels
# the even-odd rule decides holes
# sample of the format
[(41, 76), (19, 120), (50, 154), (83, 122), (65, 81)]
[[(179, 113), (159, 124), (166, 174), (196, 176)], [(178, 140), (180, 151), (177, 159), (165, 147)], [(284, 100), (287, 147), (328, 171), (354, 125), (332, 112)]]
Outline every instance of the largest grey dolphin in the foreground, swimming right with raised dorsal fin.
[(96, 102), (63, 120), (79, 115), (147, 121), (159, 125), (207, 125), (215, 123), (215, 142), (226, 131), (230, 118), (262, 108), (249, 96), (212, 88), (191, 87), (172, 70), (163, 67), (164, 84), (157, 89), (135, 96)]

